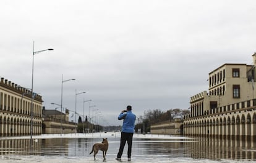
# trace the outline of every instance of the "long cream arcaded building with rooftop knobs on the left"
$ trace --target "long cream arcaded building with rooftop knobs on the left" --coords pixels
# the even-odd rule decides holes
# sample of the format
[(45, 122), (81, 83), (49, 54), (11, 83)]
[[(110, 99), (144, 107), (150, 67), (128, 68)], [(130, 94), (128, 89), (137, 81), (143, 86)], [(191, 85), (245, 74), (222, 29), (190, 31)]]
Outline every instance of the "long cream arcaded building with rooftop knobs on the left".
[[(42, 97), (30, 89), (1, 78), (0, 81), (0, 136), (41, 134)], [(32, 125), (32, 130), (30, 130)]]

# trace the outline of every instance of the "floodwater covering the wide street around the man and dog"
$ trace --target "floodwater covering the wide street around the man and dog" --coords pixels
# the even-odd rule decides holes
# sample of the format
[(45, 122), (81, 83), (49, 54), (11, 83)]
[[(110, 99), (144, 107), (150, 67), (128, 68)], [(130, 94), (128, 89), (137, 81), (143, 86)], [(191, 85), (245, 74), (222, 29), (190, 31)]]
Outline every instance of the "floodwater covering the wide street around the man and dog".
[[(1, 138), (0, 162), (54, 162), (80, 163), (103, 162), (100, 151), (89, 155), (94, 143), (108, 138), (109, 149), (104, 162), (115, 160), (119, 149), (120, 134), (70, 135), (69, 137)], [(154, 137), (153, 137), (154, 136)], [(213, 138), (184, 138), (134, 134), (131, 162), (254, 162), (254, 140), (228, 140)], [(121, 162), (127, 161), (127, 145)]]

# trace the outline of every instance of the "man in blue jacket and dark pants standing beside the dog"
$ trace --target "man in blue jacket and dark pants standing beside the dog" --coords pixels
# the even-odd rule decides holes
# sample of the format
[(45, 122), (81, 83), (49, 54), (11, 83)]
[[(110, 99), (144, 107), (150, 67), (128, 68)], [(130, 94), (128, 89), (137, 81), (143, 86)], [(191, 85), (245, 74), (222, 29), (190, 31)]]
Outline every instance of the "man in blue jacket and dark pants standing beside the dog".
[(119, 152), (117, 154), (117, 161), (121, 161), (122, 152), (124, 151), (124, 146), (126, 145), (126, 141), (128, 144), (128, 161), (130, 161), (130, 156), (132, 154), (132, 137), (134, 135), (134, 124), (136, 116), (132, 113), (132, 106), (128, 105), (126, 107), (126, 110), (122, 111), (122, 113), (119, 114), (118, 120), (124, 119), (124, 122), (122, 124), (122, 132), (121, 132), (121, 142), (119, 147)]

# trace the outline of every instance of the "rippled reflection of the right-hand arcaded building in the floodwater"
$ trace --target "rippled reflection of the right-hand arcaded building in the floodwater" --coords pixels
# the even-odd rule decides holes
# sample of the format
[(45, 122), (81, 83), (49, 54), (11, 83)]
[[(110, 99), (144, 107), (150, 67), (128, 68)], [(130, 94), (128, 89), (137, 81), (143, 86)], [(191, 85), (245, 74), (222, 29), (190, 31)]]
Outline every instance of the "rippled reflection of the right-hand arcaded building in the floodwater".
[(256, 160), (256, 143), (253, 139), (198, 138), (195, 142), (186, 142), (184, 146), (194, 159)]

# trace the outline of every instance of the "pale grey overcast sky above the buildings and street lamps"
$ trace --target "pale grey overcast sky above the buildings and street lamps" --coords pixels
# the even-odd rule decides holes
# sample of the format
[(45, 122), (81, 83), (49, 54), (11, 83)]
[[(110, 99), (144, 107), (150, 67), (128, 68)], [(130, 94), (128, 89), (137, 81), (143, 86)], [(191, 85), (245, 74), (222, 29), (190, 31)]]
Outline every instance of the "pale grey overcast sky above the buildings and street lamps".
[(34, 92), (55, 109), (62, 75), (75, 79), (63, 82), (62, 106), (101, 125), (121, 125), (127, 105), (137, 117), (188, 109), (208, 90), (208, 73), (251, 65), (256, 52), (253, 0), (2, 0), (0, 24), (1, 78), (31, 88), (33, 42), (34, 51), (52, 48), (34, 55)]

